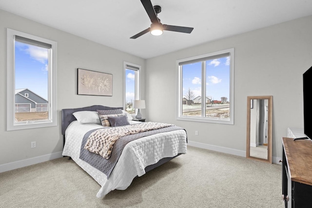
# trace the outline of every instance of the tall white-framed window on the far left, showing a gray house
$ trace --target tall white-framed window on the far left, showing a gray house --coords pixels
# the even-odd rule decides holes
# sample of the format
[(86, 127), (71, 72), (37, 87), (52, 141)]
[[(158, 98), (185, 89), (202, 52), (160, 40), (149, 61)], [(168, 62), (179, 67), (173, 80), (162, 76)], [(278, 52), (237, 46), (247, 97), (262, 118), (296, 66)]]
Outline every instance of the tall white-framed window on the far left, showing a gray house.
[(7, 29), (7, 131), (57, 126), (57, 42)]

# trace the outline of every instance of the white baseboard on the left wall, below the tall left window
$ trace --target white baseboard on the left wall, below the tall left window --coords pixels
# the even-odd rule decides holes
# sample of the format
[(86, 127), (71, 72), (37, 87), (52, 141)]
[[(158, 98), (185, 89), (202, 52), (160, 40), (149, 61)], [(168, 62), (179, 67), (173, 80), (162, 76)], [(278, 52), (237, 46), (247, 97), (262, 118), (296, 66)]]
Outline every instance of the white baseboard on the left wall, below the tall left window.
[(26, 160), (20, 160), (20, 161), (16, 161), (12, 163), (7, 163), (7, 164), (0, 165), (0, 172), (23, 168), (26, 166), (34, 165), (37, 163), (42, 163), (42, 162), (57, 159), (60, 157), (62, 157), (62, 151), (55, 152), (52, 154), (46, 154), (46, 155), (42, 155), (38, 157), (33, 157), (33, 158), (26, 159)]

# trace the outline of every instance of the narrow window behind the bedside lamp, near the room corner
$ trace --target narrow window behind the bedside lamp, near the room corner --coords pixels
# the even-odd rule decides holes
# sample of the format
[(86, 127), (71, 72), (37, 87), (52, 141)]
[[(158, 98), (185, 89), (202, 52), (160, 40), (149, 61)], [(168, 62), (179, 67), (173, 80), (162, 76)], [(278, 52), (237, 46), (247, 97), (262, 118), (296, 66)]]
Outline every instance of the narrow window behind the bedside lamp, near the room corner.
[(124, 109), (130, 114), (135, 114), (136, 110), (133, 108), (133, 101), (140, 99), (139, 94), (139, 72), (141, 66), (124, 62)]

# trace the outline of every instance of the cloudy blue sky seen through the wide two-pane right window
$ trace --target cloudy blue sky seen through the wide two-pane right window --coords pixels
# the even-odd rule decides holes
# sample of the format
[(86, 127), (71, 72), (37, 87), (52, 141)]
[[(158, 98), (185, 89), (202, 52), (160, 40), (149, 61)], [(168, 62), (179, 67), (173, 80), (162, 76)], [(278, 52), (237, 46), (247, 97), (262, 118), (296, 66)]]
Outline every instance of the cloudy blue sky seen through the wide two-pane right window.
[[(201, 96), (201, 62), (183, 65), (183, 96), (188, 89)], [(206, 96), (214, 100), (227, 97), (230, 101), (229, 57), (206, 61)]]

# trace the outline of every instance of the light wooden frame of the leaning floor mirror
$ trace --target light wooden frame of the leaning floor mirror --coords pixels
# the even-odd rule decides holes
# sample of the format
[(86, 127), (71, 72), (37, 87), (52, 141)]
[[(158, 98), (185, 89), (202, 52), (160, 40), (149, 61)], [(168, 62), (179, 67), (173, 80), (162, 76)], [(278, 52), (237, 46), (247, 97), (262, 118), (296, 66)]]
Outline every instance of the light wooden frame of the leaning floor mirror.
[[(268, 99), (268, 159), (262, 159), (250, 156), (250, 109), (251, 100)], [(247, 96), (247, 139), (246, 139), (246, 158), (272, 163), (272, 100), (273, 96)]]

